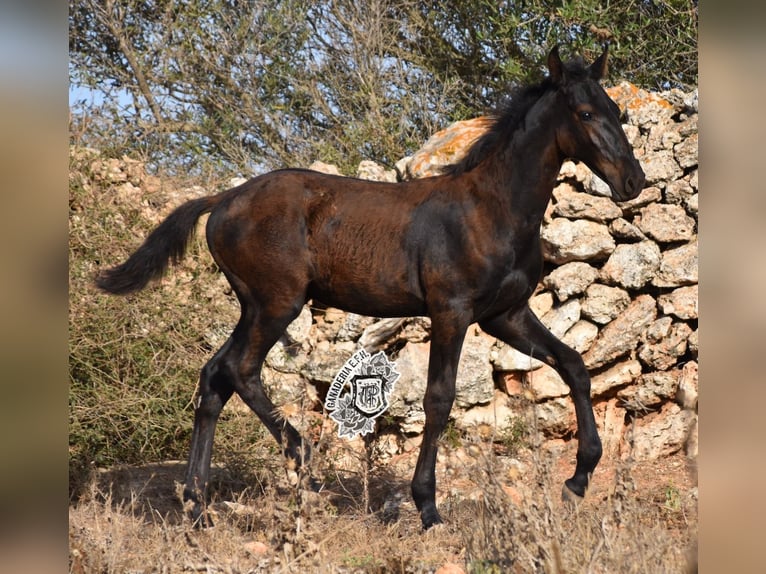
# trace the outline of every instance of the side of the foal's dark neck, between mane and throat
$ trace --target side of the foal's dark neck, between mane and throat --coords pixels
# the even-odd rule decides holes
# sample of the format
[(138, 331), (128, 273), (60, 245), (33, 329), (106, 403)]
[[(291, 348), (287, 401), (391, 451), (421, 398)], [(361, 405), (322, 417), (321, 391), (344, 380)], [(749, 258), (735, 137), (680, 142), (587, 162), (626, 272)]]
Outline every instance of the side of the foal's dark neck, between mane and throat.
[(519, 231), (538, 233), (548, 206), (563, 157), (556, 142), (557, 122), (552, 106), (533, 110), (533, 117), (514, 132), (508, 145), (499, 149), (489, 161), (502, 204)]

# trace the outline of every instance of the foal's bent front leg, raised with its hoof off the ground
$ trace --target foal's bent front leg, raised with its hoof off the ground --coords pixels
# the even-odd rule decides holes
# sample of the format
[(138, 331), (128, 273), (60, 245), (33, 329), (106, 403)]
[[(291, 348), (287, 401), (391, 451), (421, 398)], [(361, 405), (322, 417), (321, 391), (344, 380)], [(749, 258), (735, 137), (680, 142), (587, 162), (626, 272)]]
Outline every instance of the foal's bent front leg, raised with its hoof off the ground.
[(565, 499), (585, 496), (602, 448), (590, 399), (590, 375), (580, 353), (557, 339), (526, 305), (508, 315), (482, 321), (479, 326), (522, 353), (547, 363), (569, 386), (577, 418), (577, 466), (572, 478), (564, 483), (562, 495)]

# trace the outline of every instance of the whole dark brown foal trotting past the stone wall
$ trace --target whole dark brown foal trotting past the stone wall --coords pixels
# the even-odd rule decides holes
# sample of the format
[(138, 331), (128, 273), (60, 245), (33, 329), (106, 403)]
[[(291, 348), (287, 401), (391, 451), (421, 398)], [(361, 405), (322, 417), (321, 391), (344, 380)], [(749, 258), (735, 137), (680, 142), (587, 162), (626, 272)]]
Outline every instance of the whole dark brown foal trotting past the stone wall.
[(279, 170), (173, 211), (97, 285), (124, 294), (159, 278), (184, 254), (205, 213), (207, 243), (231, 283), (241, 315), (201, 372), (184, 500), (207, 524), (205, 491), (216, 421), (236, 392), (287, 457), (307, 441), (264, 392), (261, 366), (304, 304), (375, 317), (431, 318), (423, 442), (412, 496), (425, 528), (436, 508), (436, 452), (455, 398), (460, 350), (472, 323), (558, 371), (571, 389), (578, 449), (570, 496), (585, 494), (601, 458), (590, 378), (579, 353), (528, 306), (542, 272), (540, 224), (562, 162), (584, 162), (618, 201), (643, 188), (644, 173), (599, 84), (607, 49), (590, 65), (548, 56), (548, 76), (516, 90), (459, 163), (434, 177), (371, 182), (302, 169)]

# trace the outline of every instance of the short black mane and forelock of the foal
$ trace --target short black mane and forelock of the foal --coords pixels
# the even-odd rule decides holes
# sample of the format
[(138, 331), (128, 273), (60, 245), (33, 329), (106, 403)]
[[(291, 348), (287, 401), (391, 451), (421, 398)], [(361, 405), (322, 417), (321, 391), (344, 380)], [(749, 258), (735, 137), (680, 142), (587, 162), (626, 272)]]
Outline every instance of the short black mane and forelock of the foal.
[[(587, 68), (581, 58), (564, 64), (570, 79), (579, 80), (587, 76)], [(535, 103), (547, 92), (556, 89), (550, 76), (536, 84), (517, 86), (503, 98), (493, 110), (487, 113), (491, 122), (489, 128), (468, 149), (463, 158), (442, 168), (445, 175), (467, 173), (484, 161), (498, 146), (510, 141), (513, 133), (524, 123), (524, 118)]]

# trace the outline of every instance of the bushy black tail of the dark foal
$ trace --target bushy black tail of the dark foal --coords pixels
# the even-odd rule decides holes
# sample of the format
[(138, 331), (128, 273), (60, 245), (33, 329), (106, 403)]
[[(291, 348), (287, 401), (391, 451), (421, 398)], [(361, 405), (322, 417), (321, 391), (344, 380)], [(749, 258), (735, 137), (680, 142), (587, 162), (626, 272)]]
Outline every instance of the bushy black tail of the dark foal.
[(197, 220), (212, 211), (219, 199), (220, 195), (193, 199), (176, 208), (125, 263), (101, 271), (96, 285), (109, 293), (125, 295), (162, 277), (171, 260), (177, 263), (183, 257)]

